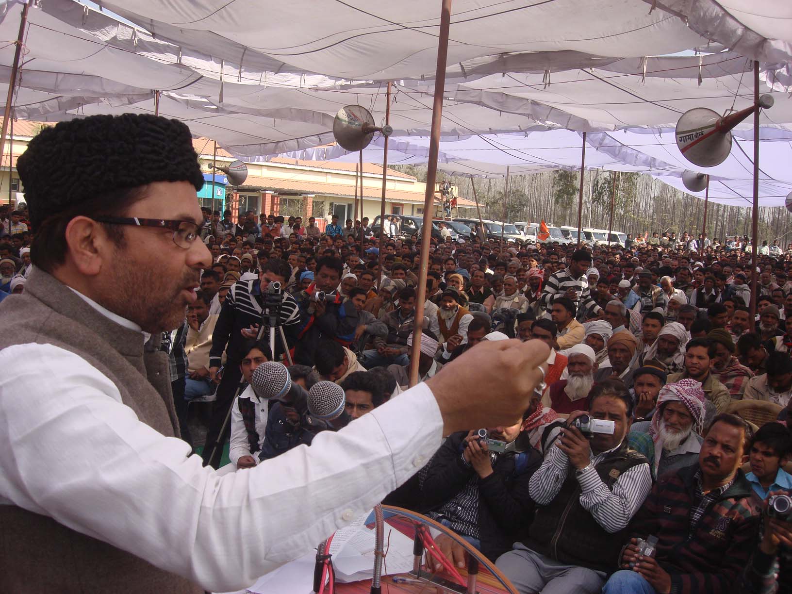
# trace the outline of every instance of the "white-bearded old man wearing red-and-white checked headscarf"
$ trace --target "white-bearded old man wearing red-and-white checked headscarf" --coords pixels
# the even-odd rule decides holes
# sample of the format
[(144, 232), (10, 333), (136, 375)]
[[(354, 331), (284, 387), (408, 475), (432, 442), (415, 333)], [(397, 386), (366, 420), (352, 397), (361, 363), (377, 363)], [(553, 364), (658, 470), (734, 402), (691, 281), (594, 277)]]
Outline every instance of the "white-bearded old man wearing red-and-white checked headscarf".
[(649, 460), (653, 478), (697, 463), (703, 442), (704, 403), (704, 390), (694, 379), (667, 383), (657, 396), (652, 420), (630, 428), (630, 447)]

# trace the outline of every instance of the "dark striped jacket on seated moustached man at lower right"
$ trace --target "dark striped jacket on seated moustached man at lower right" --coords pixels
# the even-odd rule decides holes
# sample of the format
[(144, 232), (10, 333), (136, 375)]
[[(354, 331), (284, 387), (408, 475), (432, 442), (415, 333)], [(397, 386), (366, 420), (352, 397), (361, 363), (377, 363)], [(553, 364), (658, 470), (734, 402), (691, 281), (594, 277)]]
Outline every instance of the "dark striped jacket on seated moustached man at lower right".
[(664, 474), (635, 514), (629, 531), (657, 536), (657, 562), (674, 594), (732, 592), (751, 557), (759, 529), (758, 498), (742, 470), (688, 535), (699, 465)]

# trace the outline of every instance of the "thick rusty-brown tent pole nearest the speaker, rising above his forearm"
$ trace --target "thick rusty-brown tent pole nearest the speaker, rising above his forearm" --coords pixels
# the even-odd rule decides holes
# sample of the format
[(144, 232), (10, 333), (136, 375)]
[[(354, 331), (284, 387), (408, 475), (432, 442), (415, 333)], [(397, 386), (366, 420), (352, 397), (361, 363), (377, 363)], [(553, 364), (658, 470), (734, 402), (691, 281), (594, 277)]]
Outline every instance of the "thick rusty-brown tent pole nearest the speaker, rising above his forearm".
[(421, 328), (424, 320), (426, 300), (426, 272), (429, 263), (429, 239), (432, 238), (432, 209), (435, 201), (435, 179), (437, 177), (437, 154), (440, 151), (440, 120), (443, 116), (443, 93), (445, 91), (445, 69), (448, 57), (448, 29), (451, 26), (451, 0), (443, 0), (440, 13), (440, 37), (437, 41), (437, 71), (435, 74), (435, 98), (432, 106), (432, 129), (429, 139), (429, 157), (426, 172), (426, 196), (424, 199), (424, 224), (421, 234), (421, 265), (418, 269), (418, 299), (415, 303), (415, 329), (413, 348), (409, 356), (409, 385), (418, 383), (418, 359), (421, 355)]

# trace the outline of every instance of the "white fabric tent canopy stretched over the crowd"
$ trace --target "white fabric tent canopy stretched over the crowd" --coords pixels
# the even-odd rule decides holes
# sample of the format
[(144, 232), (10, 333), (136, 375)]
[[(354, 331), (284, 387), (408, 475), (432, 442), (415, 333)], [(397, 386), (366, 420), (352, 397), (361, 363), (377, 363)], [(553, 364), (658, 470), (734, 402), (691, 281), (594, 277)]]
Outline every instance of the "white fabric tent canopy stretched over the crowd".
[[(586, 131), (586, 166), (653, 173), (679, 187), (683, 169), (693, 167), (673, 142), (676, 120), (693, 107), (751, 105), (751, 59), (760, 59), (760, 92), (775, 98), (761, 116), (760, 204), (782, 204), (792, 189), (787, 4), (455, 0), (440, 167), (477, 176), (502, 175), (506, 166), (512, 173), (576, 169)], [(333, 116), (359, 104), (382, 121), (390, 80), (389, 162), (426, 161), (439, 2), (103, 6), (136, 26), (73, 0), (32, 6), (15, 116), (154, 112), (159, 91), (162, 115), (240, 158), (352, 161), (358, 155), (324, 146), (333, 141)], [(16, 38), (20, 14), (21, 2), (6, 4), (2, 38)], [(657, 57), (695, 47), (716, 53)], [(0, 49), (6, 85), (13, 50)], [(729, 159), (705, 173), (711, 198), (747, 206), (750, 123), (735, 136), (741, 140)], [(381, 162), (381, 145), (375, 139), (364, 159)]]

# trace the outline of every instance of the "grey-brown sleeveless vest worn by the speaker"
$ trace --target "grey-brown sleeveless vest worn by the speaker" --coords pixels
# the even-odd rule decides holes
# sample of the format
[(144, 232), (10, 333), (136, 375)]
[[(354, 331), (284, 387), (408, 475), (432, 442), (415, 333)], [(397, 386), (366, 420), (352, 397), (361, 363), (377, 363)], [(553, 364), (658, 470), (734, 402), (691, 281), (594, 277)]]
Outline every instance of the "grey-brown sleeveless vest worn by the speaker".
[[(158, 336), (144, 345), (141, 333), (112, 322), (38, 269), (22, 295), (0, 303), (0, 320), (0, 349), (38, 343), (74, 352), (116, 384), (122, 401), (140, 421), (162, 435), (178, 436), (168, 359), (158, 351)], [(48, 516), (0, 505), (0, 592), (196, 594), (203, 590)]]

